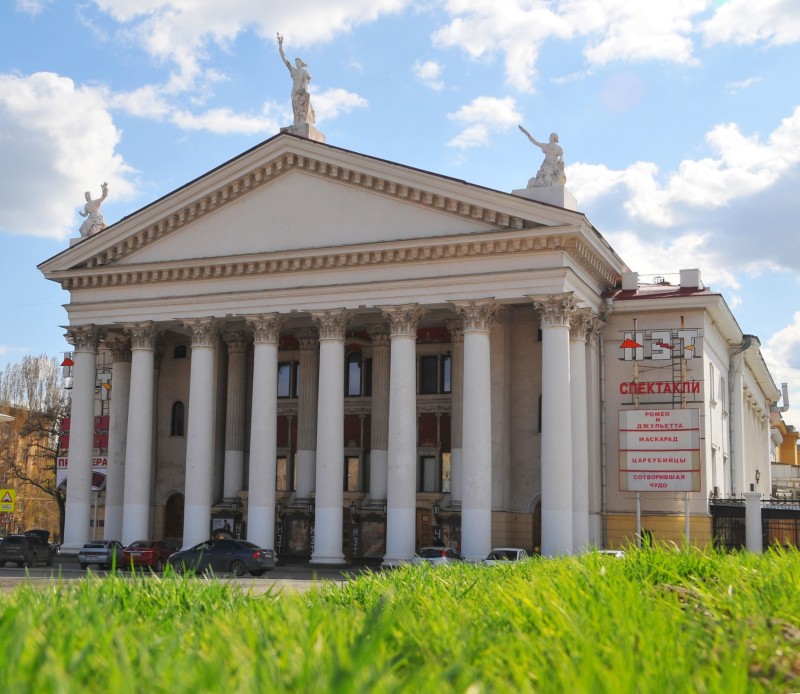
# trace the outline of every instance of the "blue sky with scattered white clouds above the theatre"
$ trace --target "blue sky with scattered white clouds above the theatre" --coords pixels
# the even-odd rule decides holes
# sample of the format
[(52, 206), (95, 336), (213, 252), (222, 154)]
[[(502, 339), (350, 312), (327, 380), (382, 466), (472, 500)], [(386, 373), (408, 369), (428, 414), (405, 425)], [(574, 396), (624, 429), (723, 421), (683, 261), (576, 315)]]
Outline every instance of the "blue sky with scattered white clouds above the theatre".
[(800, 2), (5, 0), (0, 368), (59, 356), (38, 263), (291, 123), (290, 59), (338, 147), (502, 191), (559, 134), (567, 187), (633, 270), (699, 267), (800, 425)]

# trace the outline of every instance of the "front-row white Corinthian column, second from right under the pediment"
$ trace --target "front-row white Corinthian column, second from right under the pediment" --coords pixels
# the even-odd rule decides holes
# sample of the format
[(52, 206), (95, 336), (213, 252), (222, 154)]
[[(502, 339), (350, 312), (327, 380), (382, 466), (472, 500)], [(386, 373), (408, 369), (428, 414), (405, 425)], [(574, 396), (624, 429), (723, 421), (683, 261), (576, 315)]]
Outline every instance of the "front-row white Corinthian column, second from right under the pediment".
[(492, 549), (492, 300), (454, 304), (464, 317), (461, 553), (480, 561)]

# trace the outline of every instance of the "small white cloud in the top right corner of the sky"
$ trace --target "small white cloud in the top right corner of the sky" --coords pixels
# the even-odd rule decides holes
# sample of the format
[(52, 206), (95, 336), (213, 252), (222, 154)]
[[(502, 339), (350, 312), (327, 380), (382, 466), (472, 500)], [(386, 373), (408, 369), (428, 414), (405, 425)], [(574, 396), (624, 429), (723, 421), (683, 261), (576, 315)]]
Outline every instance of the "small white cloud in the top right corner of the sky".
[(712, 45), (795, 43), (800, 41), (800, 4), (796, 0), (729, 0), (699, 29)]

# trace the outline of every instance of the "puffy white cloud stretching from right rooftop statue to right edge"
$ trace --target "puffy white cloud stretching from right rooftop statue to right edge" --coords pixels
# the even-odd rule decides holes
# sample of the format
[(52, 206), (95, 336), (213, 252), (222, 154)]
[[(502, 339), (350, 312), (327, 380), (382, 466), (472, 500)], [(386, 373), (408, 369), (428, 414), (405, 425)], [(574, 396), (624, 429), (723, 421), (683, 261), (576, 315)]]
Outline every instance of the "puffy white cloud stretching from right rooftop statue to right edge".
[(717, 155), (682, 161), (666, 184), (655, 164), (636, 162), (625, 170), (573, 164), (567, 167), (570, 188), (582, 202), (627, 188), (625, 209), (635, 219), (667, 228), (684, 221), (691, 209), (715, 209), (760, 193), (800, 163), (800, 107), (771, 133), (766, 142), (745, 137), (735, 124), (722, 124), (706, 134)]

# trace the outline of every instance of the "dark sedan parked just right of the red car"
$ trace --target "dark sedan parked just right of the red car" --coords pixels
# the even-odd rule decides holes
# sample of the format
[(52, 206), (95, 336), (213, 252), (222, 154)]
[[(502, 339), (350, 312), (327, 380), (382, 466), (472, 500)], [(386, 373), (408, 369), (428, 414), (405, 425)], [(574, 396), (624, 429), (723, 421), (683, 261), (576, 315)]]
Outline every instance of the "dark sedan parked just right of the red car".
[(176, 573), (214, 571), (234, 576), (261, 576), (275, 568), (275, 552), (246, 540), (206, 540), (169, 558)]

